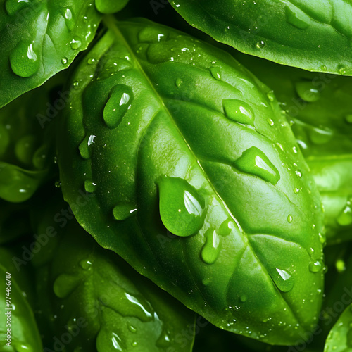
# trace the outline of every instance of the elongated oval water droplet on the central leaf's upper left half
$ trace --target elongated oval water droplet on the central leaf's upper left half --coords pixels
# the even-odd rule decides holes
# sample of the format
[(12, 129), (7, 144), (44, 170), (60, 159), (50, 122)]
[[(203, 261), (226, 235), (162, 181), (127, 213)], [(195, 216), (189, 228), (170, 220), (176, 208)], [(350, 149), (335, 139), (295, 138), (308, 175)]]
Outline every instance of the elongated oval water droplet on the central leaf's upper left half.
[(111, 89), (108, 102), (103, 111), (103, 119), (108, 128), (115, 128), (130, 108), (133, 101), (133, 93), (125, 84), (118, 84)]

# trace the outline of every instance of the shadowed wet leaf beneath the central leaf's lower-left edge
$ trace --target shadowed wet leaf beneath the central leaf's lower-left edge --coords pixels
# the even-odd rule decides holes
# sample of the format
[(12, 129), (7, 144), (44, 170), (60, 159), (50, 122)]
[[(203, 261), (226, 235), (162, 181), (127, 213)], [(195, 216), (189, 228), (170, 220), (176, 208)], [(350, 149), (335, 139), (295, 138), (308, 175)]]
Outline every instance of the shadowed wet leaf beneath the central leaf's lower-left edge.
[(75, 220), (64, 232), (49, 265), (46, 296), (51, 297), (54, 336), (59, 338), (51, 338), (48, 348), (191, 351), (193, 312), (102, 249)]

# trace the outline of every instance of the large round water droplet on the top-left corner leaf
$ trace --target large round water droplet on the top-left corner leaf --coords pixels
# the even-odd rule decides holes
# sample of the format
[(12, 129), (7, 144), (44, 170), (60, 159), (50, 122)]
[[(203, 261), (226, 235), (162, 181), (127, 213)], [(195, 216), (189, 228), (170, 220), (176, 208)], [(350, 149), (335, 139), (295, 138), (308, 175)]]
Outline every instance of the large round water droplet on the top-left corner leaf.
[(10, 54), (13, 72), (20, 77), (32, 77), (39, 70), (39, 59), (34, 51), (34, 42), (19, 42)]

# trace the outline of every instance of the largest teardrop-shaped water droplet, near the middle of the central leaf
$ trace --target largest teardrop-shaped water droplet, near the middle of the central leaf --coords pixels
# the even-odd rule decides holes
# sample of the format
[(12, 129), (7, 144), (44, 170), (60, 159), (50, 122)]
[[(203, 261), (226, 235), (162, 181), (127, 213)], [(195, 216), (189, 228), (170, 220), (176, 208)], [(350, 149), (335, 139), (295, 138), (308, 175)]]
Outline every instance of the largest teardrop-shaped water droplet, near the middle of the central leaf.
[(205, 201), (187, 181), (175, 177), (158, 180), (159, 209), (164, 226), (177, 236), (199, 232), (203, 226)]

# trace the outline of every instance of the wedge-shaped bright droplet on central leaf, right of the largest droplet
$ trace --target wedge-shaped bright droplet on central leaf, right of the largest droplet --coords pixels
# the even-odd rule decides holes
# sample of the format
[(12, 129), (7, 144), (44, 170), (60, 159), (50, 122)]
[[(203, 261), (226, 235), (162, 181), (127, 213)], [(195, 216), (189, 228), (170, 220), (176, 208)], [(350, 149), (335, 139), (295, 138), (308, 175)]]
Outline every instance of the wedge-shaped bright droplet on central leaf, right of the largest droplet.
[(272, 184), (277, 184), (280, 179), (279, 171), (275, 168), (275, 165), (256, 146), (244, 151), (237, 161), (234, 162), (234, 166), (243, 172), (261, 177)]

